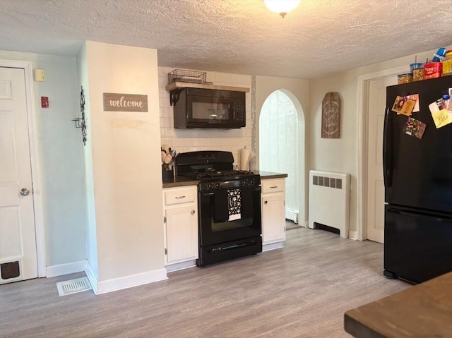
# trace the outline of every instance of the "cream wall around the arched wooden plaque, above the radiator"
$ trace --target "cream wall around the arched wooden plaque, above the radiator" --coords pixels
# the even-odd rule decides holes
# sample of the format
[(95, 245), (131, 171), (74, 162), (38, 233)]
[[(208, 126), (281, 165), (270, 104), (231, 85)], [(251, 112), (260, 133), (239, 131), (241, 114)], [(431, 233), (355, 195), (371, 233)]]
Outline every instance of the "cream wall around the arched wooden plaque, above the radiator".
[[(451, 47), (448, 47), (451, 49)], [(417, 61), (432, 59), (437, 49), (417, 53)], [(415, 55), (393, 59), (379, 64), (355, 68), (350, 71), (334, 73), (321, 78), (309, 80), (309, 167), (322, 171), (338, 171), (351, 175), (350, 183), (350, 231), (357, 231), (357, 175), (358, 175), (358, 114), (357, 107), (358, 77), (364, 74), (385, 71), (399, 66), (406, 66), (415, 61)], [(341, 99), (340, 138), (321, 138), (321, 102), (327, 92), (338, 92)]]

